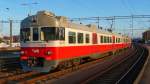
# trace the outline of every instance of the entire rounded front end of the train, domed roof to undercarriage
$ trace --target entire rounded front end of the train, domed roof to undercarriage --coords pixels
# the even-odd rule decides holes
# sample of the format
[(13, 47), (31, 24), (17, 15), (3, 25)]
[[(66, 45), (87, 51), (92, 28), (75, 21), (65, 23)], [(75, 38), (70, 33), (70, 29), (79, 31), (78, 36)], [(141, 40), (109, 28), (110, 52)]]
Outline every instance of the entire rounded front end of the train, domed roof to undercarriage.
[(61, 36), (58, 31), (64, 32), (57, 25), (54, 14), (45, 11), (22, 21), (20, 59), (24, 71), (49, 72), (57, 66), (58, 61), (55, 59), (60, 39), (57, 37)]

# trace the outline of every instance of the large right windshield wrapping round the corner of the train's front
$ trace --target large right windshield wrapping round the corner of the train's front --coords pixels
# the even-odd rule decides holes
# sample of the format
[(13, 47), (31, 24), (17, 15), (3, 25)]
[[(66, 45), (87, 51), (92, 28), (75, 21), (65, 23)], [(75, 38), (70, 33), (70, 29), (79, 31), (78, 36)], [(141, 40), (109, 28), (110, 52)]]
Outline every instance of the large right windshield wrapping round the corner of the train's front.
[(65, 40), (65, 28), (43, 27), (41, 28), (41, 40)]

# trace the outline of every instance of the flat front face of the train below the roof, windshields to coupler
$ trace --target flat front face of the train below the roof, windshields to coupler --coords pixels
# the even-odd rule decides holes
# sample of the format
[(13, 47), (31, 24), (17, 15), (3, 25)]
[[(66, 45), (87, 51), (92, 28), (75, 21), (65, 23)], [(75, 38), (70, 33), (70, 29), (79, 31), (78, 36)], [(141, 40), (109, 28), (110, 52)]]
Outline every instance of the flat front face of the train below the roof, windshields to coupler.
[(57, 66), (56, 27), (21, 29), (21, 65), (25, 71), (49, 72)]

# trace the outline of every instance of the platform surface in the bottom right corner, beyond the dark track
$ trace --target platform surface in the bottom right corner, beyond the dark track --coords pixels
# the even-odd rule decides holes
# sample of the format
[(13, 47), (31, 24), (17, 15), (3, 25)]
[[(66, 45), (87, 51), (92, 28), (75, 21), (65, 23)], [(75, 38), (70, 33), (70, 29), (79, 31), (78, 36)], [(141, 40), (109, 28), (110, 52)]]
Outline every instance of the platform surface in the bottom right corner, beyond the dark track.
[(142, 78), (139, 82), (139, 84), (150, 84), (150, 46), (147, 46), (149, 49), (149, 57), (148, 57), (148, 62), (145, 67), (144, 73), (142, 75)]

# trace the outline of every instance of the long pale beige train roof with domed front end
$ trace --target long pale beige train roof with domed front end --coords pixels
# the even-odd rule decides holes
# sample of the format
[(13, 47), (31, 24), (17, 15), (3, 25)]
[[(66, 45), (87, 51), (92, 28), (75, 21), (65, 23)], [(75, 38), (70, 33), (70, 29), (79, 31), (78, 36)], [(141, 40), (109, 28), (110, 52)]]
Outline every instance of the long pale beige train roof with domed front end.
[(93, 24), (83, 25), (83, 24), (70, 22), (66, 17), (55, 16), (54, 13), (48, 11), (39, 11), (37, 12), (36, 15), (29, 16), (21, 22), (21, 28), (36, 27), (36, 26), (73, 28), (73, 29), (80, 29), (84, 31), (124, 37), (123, 35), (117, 33), (112, 33), (112, 32), (98, 29), (96, 25)]

